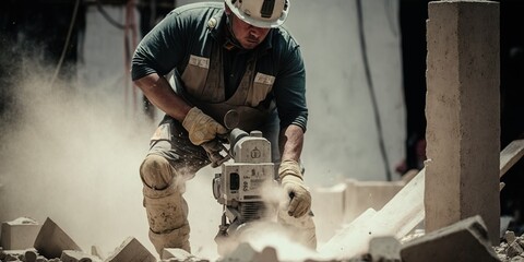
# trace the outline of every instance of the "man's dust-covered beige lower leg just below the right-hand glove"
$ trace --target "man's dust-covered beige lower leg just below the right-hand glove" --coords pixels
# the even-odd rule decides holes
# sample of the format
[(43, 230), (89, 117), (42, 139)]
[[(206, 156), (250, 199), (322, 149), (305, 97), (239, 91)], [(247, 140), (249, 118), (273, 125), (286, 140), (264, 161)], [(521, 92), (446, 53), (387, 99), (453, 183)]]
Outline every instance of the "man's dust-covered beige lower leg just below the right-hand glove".
[(287, 211), (279, 210), (277, 222), (289, 229), (291, 239), (297, 240), (307, 248), (317, 250), (317, 230), (311, 211), (301, 217), (295, 218), (289, 216)]

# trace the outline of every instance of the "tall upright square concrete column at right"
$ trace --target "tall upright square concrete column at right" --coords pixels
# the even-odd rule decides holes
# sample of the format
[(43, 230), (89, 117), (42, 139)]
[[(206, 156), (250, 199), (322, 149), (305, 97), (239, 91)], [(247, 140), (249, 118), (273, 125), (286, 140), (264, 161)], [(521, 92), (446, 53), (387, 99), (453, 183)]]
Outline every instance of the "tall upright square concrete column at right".
[(428, 8), (426, 230), (478, 214), (498, 243), (499, 4), (434, 1)]

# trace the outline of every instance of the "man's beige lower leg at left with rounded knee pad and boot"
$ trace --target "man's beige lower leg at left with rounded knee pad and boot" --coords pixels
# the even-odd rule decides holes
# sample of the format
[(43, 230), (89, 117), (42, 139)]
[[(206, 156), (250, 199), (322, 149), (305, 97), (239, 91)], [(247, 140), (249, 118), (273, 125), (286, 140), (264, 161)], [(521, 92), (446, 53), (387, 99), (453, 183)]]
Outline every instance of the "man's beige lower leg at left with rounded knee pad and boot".
[(164, 248), (191, 252), (188, 204), (182, 198), (184, 180), (166, 158), (148, 155), (140, 167), (144, 184), (144, 207), (150, 224), (150, 240), (158, 254)]

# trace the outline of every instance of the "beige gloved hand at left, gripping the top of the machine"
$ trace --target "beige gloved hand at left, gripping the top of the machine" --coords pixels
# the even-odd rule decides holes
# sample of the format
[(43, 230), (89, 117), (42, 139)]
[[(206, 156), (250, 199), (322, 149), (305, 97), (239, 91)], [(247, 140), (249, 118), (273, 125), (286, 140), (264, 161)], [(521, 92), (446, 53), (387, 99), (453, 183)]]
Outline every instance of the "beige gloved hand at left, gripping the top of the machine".
[(227, 133), (226, 128), (198, 107), (191, 108), (182, 121), (182, 127), (189, 132), (189, 140), (195, 145), (212, 141), (218, 134)]

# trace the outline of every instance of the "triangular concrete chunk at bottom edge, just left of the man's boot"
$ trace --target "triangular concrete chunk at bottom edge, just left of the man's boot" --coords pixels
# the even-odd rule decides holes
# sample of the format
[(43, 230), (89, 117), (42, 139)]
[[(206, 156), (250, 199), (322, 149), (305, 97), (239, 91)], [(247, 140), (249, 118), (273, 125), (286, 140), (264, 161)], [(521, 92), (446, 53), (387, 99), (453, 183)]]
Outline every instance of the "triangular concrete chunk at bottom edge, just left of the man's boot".
[(120, 261), (156, 262), (156, 258), (139, 240), (129, 237), (106, 259), (106, 262)]

